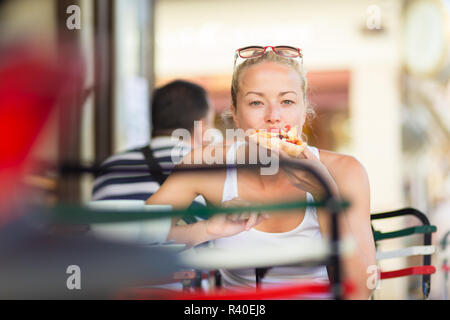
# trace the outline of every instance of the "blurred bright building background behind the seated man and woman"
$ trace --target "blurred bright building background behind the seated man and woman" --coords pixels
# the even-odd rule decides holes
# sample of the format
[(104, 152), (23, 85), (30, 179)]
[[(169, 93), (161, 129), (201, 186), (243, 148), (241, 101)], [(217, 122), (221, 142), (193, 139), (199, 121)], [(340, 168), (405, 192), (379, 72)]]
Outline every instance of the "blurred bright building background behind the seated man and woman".
[[(231, 103), (234, 50), (290, 45), (303, 50), (317, 113), (307, 128), (309, 143), (362, 162), (372, 212), (417, 208), (438, 226), (436, 244), (450, 230), (448, 0), (3, 2), (2, 45), (72, 39), (88, 65), (85, 87), (91, 90), (80, 114), (70, 116), (70, 128), (58, 125), (67, 115), (52, 116), (37, 158), (100, 163), (145, 144), (152, 90), (176, 78), (208, 90), (223, 129), (220, 113)], [(60, 130), (71, 132), (64, 145), (58, 143)], [(59, 179), (52, 171), (27, 178), (52, 203), (89, 201), (92, 181), (89, 175)], [(407, 262), (389, 260), (383, 267)], [(413, 278), (384, 281), (375, 297), (415, 298), (418, 285)], [(438, 272), (431, 297), (441, 293)]]

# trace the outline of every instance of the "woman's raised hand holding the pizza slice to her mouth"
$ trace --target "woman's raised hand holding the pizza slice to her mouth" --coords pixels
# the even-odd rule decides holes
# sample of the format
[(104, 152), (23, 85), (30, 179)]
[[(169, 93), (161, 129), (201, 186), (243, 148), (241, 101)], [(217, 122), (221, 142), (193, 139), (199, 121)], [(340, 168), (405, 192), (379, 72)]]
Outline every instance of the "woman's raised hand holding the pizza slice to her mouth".
[[(328, 171), (327, 167), (320, 162), (320, 160), (306, 147), (299, 157), (294, 158), (288, 155), (282, 149), (277, 150), (280, 159), (294, 160), (299, 163), (304, 163), (319, 173), (325, 182), (330, 186), (331, 192), (338, 195), (338, 188), (336, 182)], [(287, 174), (289, 181), (299, 189), (312, 194), (314, 198), (323, 196), (325, 189), (319, 180), (309, 171), (296, 169), (291, 166), (283, 165), (282, 170)]]

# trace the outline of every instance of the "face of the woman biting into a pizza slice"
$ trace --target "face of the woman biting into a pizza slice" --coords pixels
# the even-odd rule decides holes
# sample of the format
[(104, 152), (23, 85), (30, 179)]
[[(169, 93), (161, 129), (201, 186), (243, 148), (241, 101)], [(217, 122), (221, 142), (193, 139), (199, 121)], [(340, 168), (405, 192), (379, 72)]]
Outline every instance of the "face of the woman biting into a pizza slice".
[(291, 67), (262, 62), (243, 70), (239, 79), (237, 108), (233, 119), (238, 128), (278, 131), (285, 125), (305, 122), (303, 81)]

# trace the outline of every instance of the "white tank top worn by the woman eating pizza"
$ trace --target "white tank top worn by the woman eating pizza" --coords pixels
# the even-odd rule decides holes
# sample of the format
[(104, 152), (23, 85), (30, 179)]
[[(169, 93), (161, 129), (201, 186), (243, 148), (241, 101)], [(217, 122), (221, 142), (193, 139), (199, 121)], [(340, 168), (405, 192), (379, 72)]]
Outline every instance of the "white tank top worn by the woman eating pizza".
[[(233, 144), (227, 152), (227, 164), (235, 163), (236, 151), (245, 142)], [(319, 158), (318, 149), (308, 146), (308, 148)], [(238, 197), (237, 170), (227, 169), (225, 184), (223, 188), (222, 202)], [(306, 193), (308, 202), (314, 201), (310, 193)], [(301, 247), (302, 241), (321, 239), (319, 222), (317, 220), (316, 209), (307, 207), (303, 221), (293, 230), (282, 233), (269, 233), (250, 229), (237, 235), (214, 240), (216, 248), (232, 249), (236, 246), (258, 245), (271, 246), (276, 245), (280, 249), (283, 245), (292, 245), (298, 243)], [(220, 270), (223, 279), (223, 286), (255, 286), (255, 269), (233, 269)], [(274, 267), (269, 269), (262, 280), (262, 285), (283, 284), (298, 281), (319, 281), (328, 282), (328, 274), (325, 266), (319, 267)], [(326, 297), (326, 296), (325, 296)]]

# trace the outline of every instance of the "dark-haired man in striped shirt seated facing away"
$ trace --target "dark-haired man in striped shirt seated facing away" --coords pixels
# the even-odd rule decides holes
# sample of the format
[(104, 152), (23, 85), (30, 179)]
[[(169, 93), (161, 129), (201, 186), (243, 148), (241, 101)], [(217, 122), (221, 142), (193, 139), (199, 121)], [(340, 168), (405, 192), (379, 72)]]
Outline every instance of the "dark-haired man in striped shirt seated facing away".
[[(203, 130), (212, 127), (214, 113), (208, 95), (191, 82), (176, 80), (156, 89), (151, 108), (150, 145), (106, 159), (100, 168), (105, 172), (95, 179), (92, 200), (147, 200), (173, 169), (172, 155), (180, 155), (181, 159), (194, 143), (201, 143)], [(194, 121), (202, 125), (194, 127)], [(190, 145), (171, 138), (175, 129), (190, 132)], [(146, 168), (152, 169), (152, 173), (143, 172)], [(130, 172), (133, 169), (142, 172)], [(155, 173), (158, 170), (162, 173)], [(204, 199), (197, 197), (193, 205), (196, 204), (204, 205)]]

